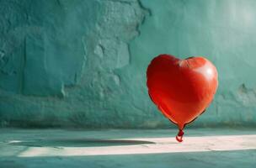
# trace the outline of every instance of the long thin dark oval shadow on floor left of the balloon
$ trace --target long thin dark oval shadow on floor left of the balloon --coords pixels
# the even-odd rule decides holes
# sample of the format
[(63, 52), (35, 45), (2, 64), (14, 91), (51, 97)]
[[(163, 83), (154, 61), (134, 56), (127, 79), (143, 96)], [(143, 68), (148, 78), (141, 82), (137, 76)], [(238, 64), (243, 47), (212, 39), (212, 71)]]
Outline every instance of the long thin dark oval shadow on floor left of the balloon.
[(131, 139), (40, 139), (33, 141), (11, 142), (9, 144), (33, 147), (96, 147), (155, 143), (151, 141)]

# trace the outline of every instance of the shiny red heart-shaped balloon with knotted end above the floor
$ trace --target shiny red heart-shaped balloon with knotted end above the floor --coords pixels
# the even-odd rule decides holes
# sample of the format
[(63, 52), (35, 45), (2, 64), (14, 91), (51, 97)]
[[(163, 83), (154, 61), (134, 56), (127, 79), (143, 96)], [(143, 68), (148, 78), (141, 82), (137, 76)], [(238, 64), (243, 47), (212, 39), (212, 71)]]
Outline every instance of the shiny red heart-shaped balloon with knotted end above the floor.
[(216, 67), (204, 57), (180, 60), (158, 55), (147, 67), (148, 94), (163, 115), (178, 125), (177, 140), (182, 141), (184, 126), (210, 105), (217, 77)]

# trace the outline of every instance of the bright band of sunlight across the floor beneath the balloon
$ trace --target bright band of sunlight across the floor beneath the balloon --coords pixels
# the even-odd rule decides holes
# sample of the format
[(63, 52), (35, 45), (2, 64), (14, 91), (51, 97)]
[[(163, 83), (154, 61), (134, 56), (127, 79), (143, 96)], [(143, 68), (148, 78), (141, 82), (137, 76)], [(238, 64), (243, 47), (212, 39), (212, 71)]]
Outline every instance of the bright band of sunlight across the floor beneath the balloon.
[[(174, 138), (109, 139), (109, 141), (145, 141), (151, 144), (109, 145), (96, 147), (29, 147), (19, 157), (134, 155), (180, 152), (256, 150), (256, 134), (186, 137), (183, 143)], [(16, 142), (9, 142), (15, 144)]]

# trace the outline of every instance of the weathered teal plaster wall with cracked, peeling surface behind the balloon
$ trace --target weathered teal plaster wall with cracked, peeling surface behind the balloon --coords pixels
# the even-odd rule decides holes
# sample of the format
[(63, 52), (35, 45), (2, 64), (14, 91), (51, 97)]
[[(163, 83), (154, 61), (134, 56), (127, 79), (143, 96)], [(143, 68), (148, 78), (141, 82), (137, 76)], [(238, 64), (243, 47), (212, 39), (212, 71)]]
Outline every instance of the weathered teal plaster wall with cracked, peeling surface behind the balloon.
[(192, 126), (256, 126), (256, 2), (0, 0), (0, 127), (173, 127), (147, 96), (156, 55), (204, 55), (214, 102)]

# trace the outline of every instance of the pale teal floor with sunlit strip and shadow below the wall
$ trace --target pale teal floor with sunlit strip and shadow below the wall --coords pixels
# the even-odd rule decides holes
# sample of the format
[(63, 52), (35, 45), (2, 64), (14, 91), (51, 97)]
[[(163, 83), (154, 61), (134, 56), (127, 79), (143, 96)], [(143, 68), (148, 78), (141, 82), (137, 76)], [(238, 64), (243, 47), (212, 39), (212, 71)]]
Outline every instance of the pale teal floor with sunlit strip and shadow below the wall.
[(0, 129), (0, 168), (255, 167), (256, 129)]

